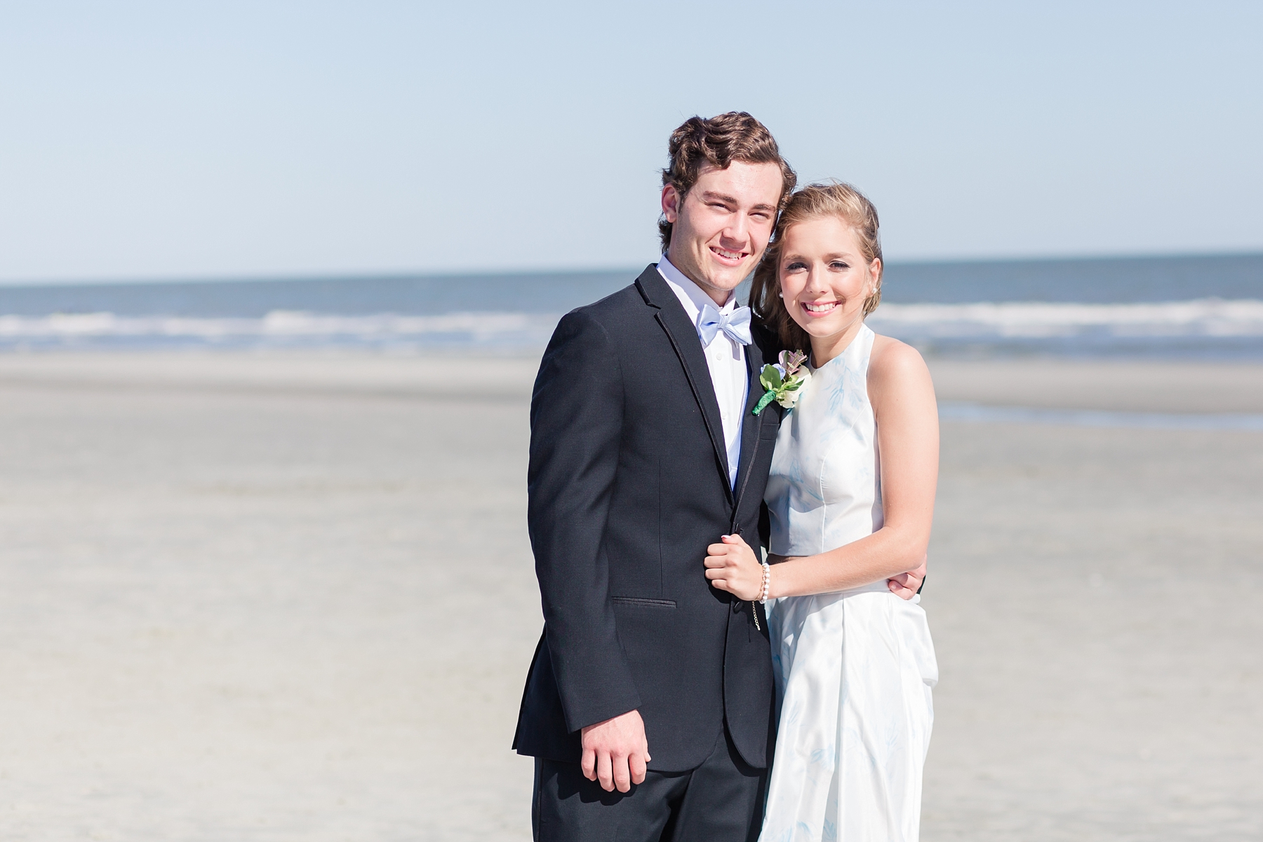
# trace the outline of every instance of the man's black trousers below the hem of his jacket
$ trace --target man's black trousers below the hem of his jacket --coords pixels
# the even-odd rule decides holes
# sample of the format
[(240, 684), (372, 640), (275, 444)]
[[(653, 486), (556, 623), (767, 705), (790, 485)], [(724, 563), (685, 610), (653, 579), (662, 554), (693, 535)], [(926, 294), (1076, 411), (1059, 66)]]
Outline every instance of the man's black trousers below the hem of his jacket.
[(649, 771), (632, 792), (608, 793), (577, 762), (536, 759), (536, 842), (754, 842), (767, 769), (748, 766), (727, 728), (702, 765)]

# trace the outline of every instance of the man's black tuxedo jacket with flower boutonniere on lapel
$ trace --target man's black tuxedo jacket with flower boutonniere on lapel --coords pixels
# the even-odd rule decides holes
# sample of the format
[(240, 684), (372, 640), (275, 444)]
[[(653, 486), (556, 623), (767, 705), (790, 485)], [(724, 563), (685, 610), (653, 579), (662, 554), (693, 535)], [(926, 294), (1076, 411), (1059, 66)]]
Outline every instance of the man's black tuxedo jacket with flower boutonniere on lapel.
[(768, 764), (767, 619), (711, 587), (702, 562), (720, 535), (759, 540), (782, 409), (750, 410), (774, 355), (767, 341), (746, 348), (734, 491), (697, 328), (655, 266), (557, 326), (530, 400), (528, 525), (544, 634), (518, 752), (577, 762), (580, 728), (638, 709), (650, 769), (696, 768), (725, 722), (748, 764)]

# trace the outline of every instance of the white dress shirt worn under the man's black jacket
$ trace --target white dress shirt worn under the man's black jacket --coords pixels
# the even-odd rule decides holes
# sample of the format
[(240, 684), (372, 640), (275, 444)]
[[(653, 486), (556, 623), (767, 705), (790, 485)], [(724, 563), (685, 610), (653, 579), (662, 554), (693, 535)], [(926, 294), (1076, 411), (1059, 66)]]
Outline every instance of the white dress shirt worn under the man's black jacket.
[[(701, 321), (702, 308), (706, 304), (715, 307), (715, 299), (671, 265), (667, 255), (662, 255), (658, 260), (658, 274), (671, 287), (671, 292), (676, 293), (676, 298), (696, 328)], [(721, 314), (735, 311), (736, 293), (729, 293), (724, 307), (716, 309)], [(701, 331), (697, 333), (697, 341), (702, 341)], [(745, 422), (745, 400), (750, 389), (750, 377), (745, 367), (745, 346), (729, 338), (724, 331), (716, 331), (710, 345), (703, 343), (702, 350), (706, 352), (706, 367), (710, 369), (711, 385), (715, 386), (715, 399), (719, 401), (719, 417), (724, 423), (727, 481), (735, 487), (736, 468), (741, 460), (741, 424)]]

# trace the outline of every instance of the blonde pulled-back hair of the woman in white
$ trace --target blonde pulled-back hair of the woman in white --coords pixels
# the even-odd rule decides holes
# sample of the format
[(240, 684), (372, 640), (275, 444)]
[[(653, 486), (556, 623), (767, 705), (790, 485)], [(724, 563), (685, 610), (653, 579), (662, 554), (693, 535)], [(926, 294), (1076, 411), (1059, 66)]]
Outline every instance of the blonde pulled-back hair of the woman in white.
[[(806, 351), (811, 347), (811, 337), (793, 321), (781, 298), (781, 245), (789, 228), (822, 216), (837, 217), (851, 226), (859, 237), (865, 264), (871, 265), (874, 260), (879, 260), (882, 269), (885, 268), (885, 261), (882, 260), (882, 240), (878, 235), (877, 208), (863, 193), (850, 184), (831, 182), (808, 184), (791, 196), (781, 212), (781, 218), (777, 220), (768, 250), (754, 270), (754, 284), (750, 287), (750, 308), (764, 324), (775, 331), (777, 338), (786, 348)], [(882, 269), (878, 270), (873, 294), (864, 300), (864, 316), (875, 311), (882, 303)]]

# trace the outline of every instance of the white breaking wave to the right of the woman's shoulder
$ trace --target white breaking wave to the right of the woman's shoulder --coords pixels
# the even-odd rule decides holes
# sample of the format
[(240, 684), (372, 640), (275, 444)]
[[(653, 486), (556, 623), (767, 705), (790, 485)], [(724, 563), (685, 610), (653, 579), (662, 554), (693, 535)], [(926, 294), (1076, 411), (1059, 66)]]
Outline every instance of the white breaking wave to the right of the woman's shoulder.
[(873, 329), (911, 338), (1259, 337), (1263, 300), (1200, 298), (1152, 304), (882, 304)]

